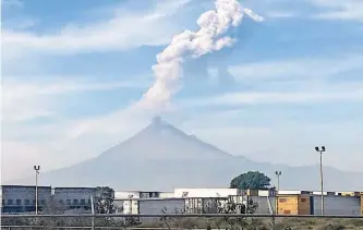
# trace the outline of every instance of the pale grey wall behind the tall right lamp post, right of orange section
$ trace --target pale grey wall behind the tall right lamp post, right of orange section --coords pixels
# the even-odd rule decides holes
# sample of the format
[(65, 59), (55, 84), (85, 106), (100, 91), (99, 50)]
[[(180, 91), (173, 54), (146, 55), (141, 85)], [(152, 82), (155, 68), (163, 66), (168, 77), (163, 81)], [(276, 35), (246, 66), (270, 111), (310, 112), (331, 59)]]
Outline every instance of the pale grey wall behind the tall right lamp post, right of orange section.
[[(322, 197), (314, 196), (314, 215), (322, 214)], [(354, 196), (325, 196), (324, 215), (360, 215), (360, 197)]]

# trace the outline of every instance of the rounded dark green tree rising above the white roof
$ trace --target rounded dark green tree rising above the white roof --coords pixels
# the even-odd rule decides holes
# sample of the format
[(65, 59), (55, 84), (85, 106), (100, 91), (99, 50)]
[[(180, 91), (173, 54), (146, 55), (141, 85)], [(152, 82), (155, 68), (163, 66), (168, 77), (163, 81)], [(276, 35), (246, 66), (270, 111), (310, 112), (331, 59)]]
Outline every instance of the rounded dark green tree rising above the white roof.
[(230, 184), (231, 189), (265, 190), (270, 187), (270, 179), (262, 172), (249, 171), (235, 177)]

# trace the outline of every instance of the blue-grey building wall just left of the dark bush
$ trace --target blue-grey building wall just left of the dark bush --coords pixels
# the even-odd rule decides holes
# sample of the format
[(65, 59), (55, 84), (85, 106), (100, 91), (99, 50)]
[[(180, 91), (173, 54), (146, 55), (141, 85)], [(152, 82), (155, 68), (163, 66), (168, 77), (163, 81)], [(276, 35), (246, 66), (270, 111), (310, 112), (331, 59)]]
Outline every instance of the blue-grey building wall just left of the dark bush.
[(96, 187), (55, 187), (53, 201), (65, 209), (90, 209), (90, 197), (95, 197)]

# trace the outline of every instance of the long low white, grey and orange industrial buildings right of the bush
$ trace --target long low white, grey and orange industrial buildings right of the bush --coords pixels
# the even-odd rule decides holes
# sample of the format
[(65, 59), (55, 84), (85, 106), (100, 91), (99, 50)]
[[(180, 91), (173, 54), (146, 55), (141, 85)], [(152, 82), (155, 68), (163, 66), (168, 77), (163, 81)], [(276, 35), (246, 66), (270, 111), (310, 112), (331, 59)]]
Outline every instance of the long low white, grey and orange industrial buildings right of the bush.
[[(322, 193), (311, 191), (241, 191), (234, 189), (176, 189), (173, 198), (130, 198), (120, 201), (124, 214), (209, 213), (218, 202), (257, 204), (257, 214), (319, 215)], [(325, 215), (363, 215), (363, 193), (325, 192)]]

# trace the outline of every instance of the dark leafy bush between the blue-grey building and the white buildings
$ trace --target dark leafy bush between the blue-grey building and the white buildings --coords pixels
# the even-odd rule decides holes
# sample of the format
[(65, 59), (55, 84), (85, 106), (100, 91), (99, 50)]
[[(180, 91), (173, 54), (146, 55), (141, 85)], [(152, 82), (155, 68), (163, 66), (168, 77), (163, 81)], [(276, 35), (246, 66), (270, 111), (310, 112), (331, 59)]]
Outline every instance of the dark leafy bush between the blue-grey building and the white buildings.
[(108, 186), (97, 186), (96, 197), (94, 199), (96, 214), (114, 214), (116, 205), (113, 204), (114, 191)]

